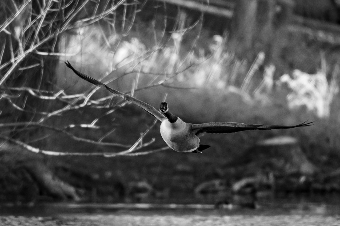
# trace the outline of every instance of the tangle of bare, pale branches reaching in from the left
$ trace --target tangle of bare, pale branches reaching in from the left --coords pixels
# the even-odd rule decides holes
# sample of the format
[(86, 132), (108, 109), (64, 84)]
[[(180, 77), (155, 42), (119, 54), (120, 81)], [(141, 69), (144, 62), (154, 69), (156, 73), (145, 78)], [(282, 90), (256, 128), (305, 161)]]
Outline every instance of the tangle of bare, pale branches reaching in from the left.
[[(72, 31), (88, 27), (89, 25), (95, 24), (101, 20), (110, 23), (111, 26), (115, 26), (114, 23), (116, 21), (114, 20), (117, 19), (118, 15), (116, 10), (119, 7), (124, 8), (125, 13), (122, 15), (123, 18), (121, 21), (123, 29), (127, 32), (132, 27), (133, 21), (135, 20), (135, 14), (133, 14), (132, 18), (128, 20), (126, 16), (126, 8), (133, 6), (134, 10), (137, 10), (137, 4), (135, 4), (135, 2), (128, 4), (126, 0), (119, 0), (108, 1), (103, 4), (100, 3), (100, 1), (93, 2), (90, 0), (76, 0), (69, 2), (55, 0), (43, 0), (39, 2), (35, 0), (24, 0), (20, 3), (17, 3), (16, 1), (8, 1), (8, 5), (8, 8), (11, 9), (12, 12), (5, 12), (6, 17), (4, 17), (4, 21), (1, 21), (0, 24), (0, 33), (3, 34), (1, 37), (5, 40), (0, 51), (0, 101), (10, 108), (9, 110), (6, 109), (6, 112), (16, 112), (18, 117), (9, 116), (9, 120), (0, 122), (0, 128), (2, 128), (0, 137), (2, 139), (14, 142), (15, 144), (32, 152), (52, 156), (137, 156), (154, 153), (168, 148), (163, 147), (149, 151), (140, 151), (142, 148), (148, 147), (155, 141), (155, 139), (152, 138), (150, 141), (143, 142), (146, 135), (149, 133), (150, 129), (153, 128), (156, 122), (153, 122), (146, 131), (142, 132), (133, 144), (105, 142), (104, 139), (112, 134), (115, 131), (115, 128), (110, 128), (110, 130), (105, 132), (105, 134), (98, 140), (76, 135), (76, 133), (73, 132), (74, 129), (87, 129), (90, 131), (103, 129), (103, 126), (99, 123), (101, 117), (112, 114), (116, 109), (124, 106), (126, 102), (119, 105), (113, 105), (111, 103), (113, 96), (94, 99), (92, 97), (94, 97), (97, 93), (98, 89), (96, 88), (72, 95), (67, 94), (65, 89), (62, 88), (54, 89), (55, 91), (52, 91), (50, 88), (41, 88), (45, 87), (41, 86), (42, 82), (45, 82), (44, 80), (48, 80), (44, 77), (44, 68), (46, 68), (44, 63), (46, 58), (75, 56), (78, 54), (78, 51), (73, 51), (71, 53), (60, 53), (58, 51), (58, 41), (64, 37), (66, 32), (71, 33)], [(140, 65), (141, 61), (148, 58), (155, 51), (157, 50), (154, 49), (149, 52), (143, 52), (138, 56), (136, 55), (134, 60), (122, 60), (119, 65), (117, 64), (117, 67), (112, 68), (111, 72), (134, 63), (135, 65), (130, 67), (130, 70), (127, 73), (123, 73), (121, 77), (131, 73), (136, 73), (137, 71), (141, 74), (147, 74), (150, 71), (143, 71), (141, 69), (135, 70), (134, 68), (137, 65)], [(7, 53), (9, 54), (6, 55)], [(139, 63), (136, 63), (136, 61), (139, 61)], [(31, 73), (31, 71), (34, 72)], [(36, 71), (40, 71), (40, 73), (37, 73)], [(37, 85), (16, 82), (23, 80), (22, 78), (25, 78), (24, 81), (32, 79), (29, 75), (27, 75), (28, 73), (30, 73), (29, 75), (35, 76), (35, 80), (40, 79), (40, 81), (37, 82)], [(137, 88), (137, 81), (129, 92), (133, 95), (136, 90), (147, 89), (158, 85), (167, 85), (165, 83), (168, 82), (169, 79), (180, 73), (181, 71), (163, 73), (163, 75), (157, 74), (157, 76), (165, 76), (165, 79), (141, 88)], [(120, 78), (120, 76), (115, 79), (118, 78)], [(37, 110), (37, 107), (32, 104), (35, 102), (41, 104), (47, 103), (46, 105), (52, 105), (53, 107)], [(102, 114), (102, 116), (92, 119), (92, 122), (90, 123), (65, 122), (64, 125), (58, 126), (53, 124), (53, 120), (56, 117), (62, 119), (67, 114), (80, 112), (88, 108), (94, 110), (105, 110), (106, 112)], [(7, 117), (4, 113), (4, 109), (1, 110), (0, 119), (1, 117)], [(24, 116), (22, 118), (26, 119), (20, 119), (20, 115)], [(28, 121), (27, 118), (30, 120)], [(61, 134), (66, 135), (68, 138), (77, 142), (128, 149), (114, 153), (58, 152), (33, 147), (32, 145), (24, 142), (20, 136), (17, 136), (19, 133), (24, 131), (27, 131), (28, 133), (30, 133), (30, 131), (36, 131), (35, 129), (37, 128), (44, 129), (44, 131), (49, 131), (51, 133), (45, 133), (43, 136), (36, 138), (35, 140), (44, 140), (49, 138), (52, 134)], [(32, 142), (32, 140), (33, 138), (30, 142)]]

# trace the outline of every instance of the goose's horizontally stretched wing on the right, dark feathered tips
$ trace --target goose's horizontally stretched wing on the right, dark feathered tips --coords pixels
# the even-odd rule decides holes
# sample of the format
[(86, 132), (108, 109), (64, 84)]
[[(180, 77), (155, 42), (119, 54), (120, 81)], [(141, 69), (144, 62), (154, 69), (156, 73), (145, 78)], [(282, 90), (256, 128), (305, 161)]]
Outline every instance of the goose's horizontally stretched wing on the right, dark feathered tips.
[[(307, 121), (306, 121), (307, 122)], [(290, 129), (295, 127), (308, 127), (313, 122), (301, 123), (295, 126), (280, 126), (280, 125), (254, 125), (244, 124), (239, 122), (209, 122), (202, 124), (191, 124), (192, 132), (196, 135), (202, 132), (206, 133), (231, 133), (252, 129)]]

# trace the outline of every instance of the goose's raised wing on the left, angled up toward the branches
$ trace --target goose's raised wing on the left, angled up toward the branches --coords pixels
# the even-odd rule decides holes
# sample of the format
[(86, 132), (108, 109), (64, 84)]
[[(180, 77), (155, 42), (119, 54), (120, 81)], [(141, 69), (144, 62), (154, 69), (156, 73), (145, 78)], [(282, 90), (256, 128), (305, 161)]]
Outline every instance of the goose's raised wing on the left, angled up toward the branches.
[(94, 79), (94, 78), (91, 78), (90, 76), (87, 76), (81, 72), (79, 72), (78, 70), (74, 69), (72, 67), (72, 65), (70, 64), (70, 62), (65, 62), (66, 66), (68, 66), (69, 68), (71, 68), (73, 70), (73, 72), (78, 75), (80, 78), (94, 84), (94, 85), (97, 85), (103, 89), (106, 89), (108, 91), (110, 91), (111, 93), (127, 100), (127, 101), (130, 101), (134, 104), (136, 104), (137, 106), (143, 108), (144, 110), (146, 110), (150, 115), (154, 116), (155, 118), (157, 118), (159, 121), (162, 121), (162, 119), (166, 118), (164, 115), (162, 115), (159, 111), (156, 110), (156, 108), (154, 108), (153, 106), (151, 106), (150, 104), (147, 104), (143, 101), (140, 101), (138, 100), (137, 98), (134, 98), (128, 94), (124, 94), (124, 93), (121, 93), (113, 88), (110, 88), (108, 87), (107, 85), (105, 85), (104, 83)]

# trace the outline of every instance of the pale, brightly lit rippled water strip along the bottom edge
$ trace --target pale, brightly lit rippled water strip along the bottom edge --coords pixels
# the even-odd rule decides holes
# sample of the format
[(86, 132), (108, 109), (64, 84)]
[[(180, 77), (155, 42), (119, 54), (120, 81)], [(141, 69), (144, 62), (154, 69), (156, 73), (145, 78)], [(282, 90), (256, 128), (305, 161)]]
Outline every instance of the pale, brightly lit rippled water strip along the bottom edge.
[(73, 217), (0, 217), (1, 225), (340, 225), (336, 216), (318, 215), (136, 215), (136, 214), (91, 214)]

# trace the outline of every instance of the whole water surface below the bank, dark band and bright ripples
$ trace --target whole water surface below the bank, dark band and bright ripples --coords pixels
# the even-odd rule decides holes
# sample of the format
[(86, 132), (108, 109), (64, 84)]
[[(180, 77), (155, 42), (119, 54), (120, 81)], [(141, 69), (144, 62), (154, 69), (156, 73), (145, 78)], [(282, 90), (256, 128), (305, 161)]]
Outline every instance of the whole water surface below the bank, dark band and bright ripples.
[(0, 225), (340, 225), (339, 205), (320, 203), (269, 205), (255, 210), (69, 207), (1, 208)]

